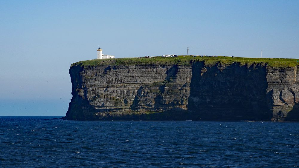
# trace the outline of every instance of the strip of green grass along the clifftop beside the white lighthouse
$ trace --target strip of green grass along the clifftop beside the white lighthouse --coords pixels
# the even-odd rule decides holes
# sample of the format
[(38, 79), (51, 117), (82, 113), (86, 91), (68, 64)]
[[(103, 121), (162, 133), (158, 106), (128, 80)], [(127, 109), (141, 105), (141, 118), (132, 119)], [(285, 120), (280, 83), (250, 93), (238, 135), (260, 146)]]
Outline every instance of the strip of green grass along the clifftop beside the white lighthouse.
[(76, 62), (71, 65), (80, 66), (97, 66), (97, 65), (190, 65), (192, 62), (203, 61), (205, 65), (215, 65), (218, 62), (224, 64), (240, 63), (240, 64), (254, 64), (262, 63), (270, 67), (295, 67), (299, 65), (298, 59), (290, 58), (243, 58), (243, 57), (192, 57), (192, 56), (179, 56), (179, 58), (118, 58), (118, 59), (93, 59), (87, 61)]

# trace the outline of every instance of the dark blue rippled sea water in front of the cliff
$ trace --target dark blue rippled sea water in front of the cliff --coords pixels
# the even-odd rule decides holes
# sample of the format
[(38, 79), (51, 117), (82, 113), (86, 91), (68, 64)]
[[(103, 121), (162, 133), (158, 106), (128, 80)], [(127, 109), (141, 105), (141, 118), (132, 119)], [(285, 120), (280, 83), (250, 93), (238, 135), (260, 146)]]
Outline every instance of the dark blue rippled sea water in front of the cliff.
[(298, 122), (0, 117), (0, 167), (298, 167)]

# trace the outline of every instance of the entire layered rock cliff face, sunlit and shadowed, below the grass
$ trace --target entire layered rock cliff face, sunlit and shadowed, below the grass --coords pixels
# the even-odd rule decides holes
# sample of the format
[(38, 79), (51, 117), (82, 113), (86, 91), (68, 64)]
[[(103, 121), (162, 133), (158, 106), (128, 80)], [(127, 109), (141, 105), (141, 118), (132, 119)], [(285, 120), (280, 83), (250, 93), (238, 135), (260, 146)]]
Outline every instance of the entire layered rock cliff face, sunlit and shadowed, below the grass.
[(297, 67), (77, 65), (70, 75), (66, 119), (298, 121)]

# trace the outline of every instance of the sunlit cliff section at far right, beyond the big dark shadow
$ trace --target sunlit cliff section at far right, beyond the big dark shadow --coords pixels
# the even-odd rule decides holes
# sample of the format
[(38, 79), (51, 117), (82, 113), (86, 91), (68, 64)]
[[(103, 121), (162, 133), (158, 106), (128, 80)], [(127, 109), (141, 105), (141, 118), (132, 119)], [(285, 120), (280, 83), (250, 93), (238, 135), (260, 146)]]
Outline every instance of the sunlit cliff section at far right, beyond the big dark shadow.
[(298, 121), (299, 76), (297, 67), (268, 67), (268, 106), (272, 121)]

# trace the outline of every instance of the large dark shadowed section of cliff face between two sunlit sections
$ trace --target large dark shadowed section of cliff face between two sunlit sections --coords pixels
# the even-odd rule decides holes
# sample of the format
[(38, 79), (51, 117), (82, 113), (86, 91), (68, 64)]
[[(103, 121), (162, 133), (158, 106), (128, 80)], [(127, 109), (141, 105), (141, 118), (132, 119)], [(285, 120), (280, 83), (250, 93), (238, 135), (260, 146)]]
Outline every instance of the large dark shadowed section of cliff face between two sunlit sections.
[(266, 67), (194, 63), (189, 110), (205, 120), (269, 120)]

